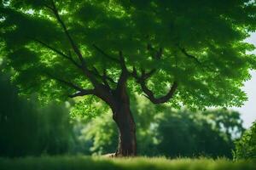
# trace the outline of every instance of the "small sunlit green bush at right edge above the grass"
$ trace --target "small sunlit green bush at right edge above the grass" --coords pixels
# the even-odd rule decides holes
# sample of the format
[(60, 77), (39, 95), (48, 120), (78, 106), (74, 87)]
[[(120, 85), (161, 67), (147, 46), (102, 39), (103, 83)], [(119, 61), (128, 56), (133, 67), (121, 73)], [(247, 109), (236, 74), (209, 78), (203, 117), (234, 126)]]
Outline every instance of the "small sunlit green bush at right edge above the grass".
[(236, 142), (234, 158), (236, 160), (256, 158), (256, 122), (253, 122), (253, 126)]

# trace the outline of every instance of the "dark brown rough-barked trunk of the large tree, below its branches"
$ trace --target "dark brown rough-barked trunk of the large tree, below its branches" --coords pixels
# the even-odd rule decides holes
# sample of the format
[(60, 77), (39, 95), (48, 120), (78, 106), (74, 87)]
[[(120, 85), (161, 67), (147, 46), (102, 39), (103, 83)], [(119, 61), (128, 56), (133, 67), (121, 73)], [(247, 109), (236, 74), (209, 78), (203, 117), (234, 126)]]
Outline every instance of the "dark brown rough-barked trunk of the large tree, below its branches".
[(118, 98), (112, 110), (113, 120), (119, 128), (119, 144), (115, 156), (136, 156), (136, 125), (131, 114), (128, 95), (125, 95), (125, 99)]

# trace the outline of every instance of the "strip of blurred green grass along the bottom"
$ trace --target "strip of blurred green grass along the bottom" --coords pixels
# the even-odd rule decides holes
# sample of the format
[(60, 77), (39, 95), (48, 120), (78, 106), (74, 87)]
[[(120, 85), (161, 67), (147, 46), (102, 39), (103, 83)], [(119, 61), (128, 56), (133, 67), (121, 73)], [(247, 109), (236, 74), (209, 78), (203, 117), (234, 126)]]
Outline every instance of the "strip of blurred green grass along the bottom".
[(256, 170), (255, 161), (225, 159), (103, 158), (90, 156), (45, 156), (0, 158), (0, 170)]

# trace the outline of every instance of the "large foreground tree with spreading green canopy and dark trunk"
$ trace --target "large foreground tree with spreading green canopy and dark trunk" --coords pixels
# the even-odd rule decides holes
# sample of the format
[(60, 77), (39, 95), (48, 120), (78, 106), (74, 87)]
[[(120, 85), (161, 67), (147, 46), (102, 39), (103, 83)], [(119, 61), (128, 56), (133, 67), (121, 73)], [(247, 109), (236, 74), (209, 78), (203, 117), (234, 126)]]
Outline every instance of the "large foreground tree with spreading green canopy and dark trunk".
[(172, 107), (241, 105), (255, 68), (255, 1), (3, 0), (4, 56), (23, 94), (92, 95), (113, 111), (117, 156), (136, 155), (132, 94)]

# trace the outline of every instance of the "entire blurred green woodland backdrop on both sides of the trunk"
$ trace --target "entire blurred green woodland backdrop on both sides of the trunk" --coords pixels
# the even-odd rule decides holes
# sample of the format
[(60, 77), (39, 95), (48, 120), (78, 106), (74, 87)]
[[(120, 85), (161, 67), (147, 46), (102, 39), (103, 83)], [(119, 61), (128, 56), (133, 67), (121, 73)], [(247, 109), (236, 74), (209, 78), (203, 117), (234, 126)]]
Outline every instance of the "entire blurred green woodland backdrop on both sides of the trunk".
[[(118, 143), (117, 127), (108, 110), (100, 116), (71, 116), (70, 105), (40, 105), (36, 96), (24, 99), (0, 74), (0, 156), (61, 154), (103, 155)], [(236, 111), (176, 111), (131, 99), (141, 156), (232, 157), (244, 132)]]

